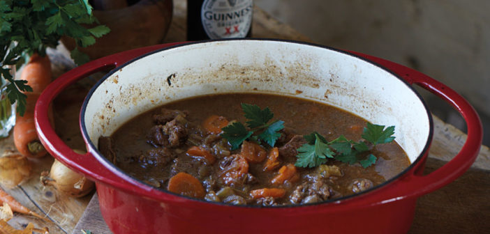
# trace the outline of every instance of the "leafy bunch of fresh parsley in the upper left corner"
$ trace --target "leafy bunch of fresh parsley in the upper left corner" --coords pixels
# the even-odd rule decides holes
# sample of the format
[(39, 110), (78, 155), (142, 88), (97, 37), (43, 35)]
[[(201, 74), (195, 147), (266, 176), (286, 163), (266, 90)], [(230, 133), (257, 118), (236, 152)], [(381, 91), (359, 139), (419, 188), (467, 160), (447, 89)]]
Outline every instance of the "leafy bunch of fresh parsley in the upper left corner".
[[(47, 47), (56, 47), (61, 36), (75, 39), (78, 47), (96, 42), (110, 29), (104, 25), (89, 29), (82, 24), (98, 24), (88, 0), (0, 0), (0, 77), (1, 87), (11, 104), (17, 101), (17, 112), (25, 111), (26, 95), (32, 91), (26, 81), (14, 80), (6, 65), (19, 67), (27, 56), (45, 55)], [(89, 61), (89, 56), (77, 47), (71, 52), (77, 64)]]

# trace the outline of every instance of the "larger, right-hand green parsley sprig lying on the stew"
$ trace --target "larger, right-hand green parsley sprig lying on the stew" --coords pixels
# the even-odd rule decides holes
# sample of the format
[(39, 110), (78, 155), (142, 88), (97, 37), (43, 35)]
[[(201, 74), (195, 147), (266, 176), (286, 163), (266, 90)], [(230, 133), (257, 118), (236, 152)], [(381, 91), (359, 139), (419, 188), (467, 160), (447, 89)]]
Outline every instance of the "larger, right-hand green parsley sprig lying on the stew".
[(366, 142), (376, 146), (380, 143), (389, 143), (394, 140), (394, 126), (386, 127), (367, 123), (362, 132), (365, 141), (352, 141), (343, 135), (333, 141), (327, 141), (325, 137), (313, 132), (303, 136), (307, 141), (297, 149), (298, 155), (295, 166), (315, 167), (325, 164), (328, 159), (336, 159), (348, 164), (359, 162), (366, 168), (376, 163), (378, 159), (373, 154), (366, 155), (370, 150)]

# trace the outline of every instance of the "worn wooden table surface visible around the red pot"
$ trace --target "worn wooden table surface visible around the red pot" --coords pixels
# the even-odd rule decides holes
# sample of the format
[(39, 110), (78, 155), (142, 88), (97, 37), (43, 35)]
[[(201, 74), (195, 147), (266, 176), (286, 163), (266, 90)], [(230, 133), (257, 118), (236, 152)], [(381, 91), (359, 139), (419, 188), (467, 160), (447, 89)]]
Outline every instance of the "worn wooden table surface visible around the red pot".
[[(163, 42), (185, 40), (186, 1), (174, 0), (174, 17), (168, 35)], [(286, 24), (274, 20), (260, 8), (254, 8), (253, 37), (281, 38), (311, 42)], [(73, 68), (66, 49), (60, 46), (48, 51), (56, 78)], [(92, 84), (103, 74), (92, 75), (74, 84), (59, 95), (54, 102), (54, 118), (57, 133), (71, 148), (84, 149), (78, 128), (81, 103)], [(426, 171), (438, 169), (449, 161), (466, 140), (466, 134), (435, 116), (435, 135), (429, 151)], [(15, 150), (12, 137), (0, 141), (0, 153)], [(45, 215), (51, 221), (42, 221), (22, 214), (15, 214), (9, 224), (22, 228), (29, 222), (37, 227), (47, 226), (50, 233), (77, 233), (87, 229), (96, 234), (110, 233), (98, 210), (94, 192), (83, 198), (69, 198), (52, 187), (40, 185), (41, 171), (48, 171), (52, 157), (35, 161), (34, 176), (24, 184), (6, 192), (31, 210)], [(490, 232), (490, 150), (482, 146), (473, 167), (461, 178), (436, 192), (422, 196), (410, 234), (422, 233), (489, 233)], [(82, 218), (81, 218), (82, 217)]]

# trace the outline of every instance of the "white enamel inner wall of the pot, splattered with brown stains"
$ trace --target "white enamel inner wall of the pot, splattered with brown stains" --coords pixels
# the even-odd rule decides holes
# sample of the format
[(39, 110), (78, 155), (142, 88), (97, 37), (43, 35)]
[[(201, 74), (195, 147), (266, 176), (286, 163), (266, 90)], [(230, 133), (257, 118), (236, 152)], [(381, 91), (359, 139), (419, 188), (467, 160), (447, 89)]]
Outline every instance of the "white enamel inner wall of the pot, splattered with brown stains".
[[(94, 87), (82, 121), (91, 143), (159, 105), (210, 93), (281, 93), (396, 126), (411, 162), (429, 137), (424, 104), (391, 73), (332, 49), (274, 40), (200, 42), (128, 63)], [(225, 107), (223, 107), (225, 108)]]

